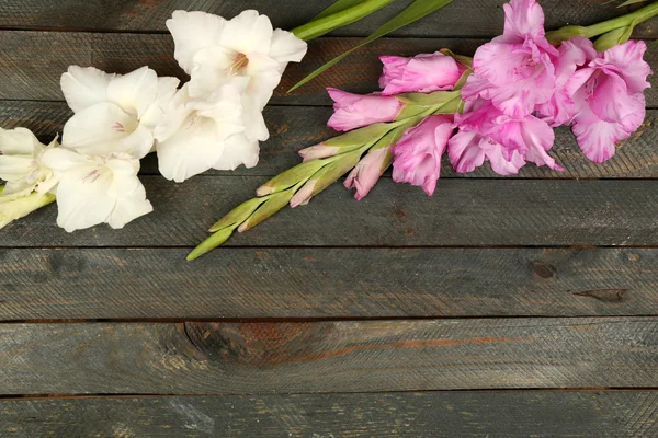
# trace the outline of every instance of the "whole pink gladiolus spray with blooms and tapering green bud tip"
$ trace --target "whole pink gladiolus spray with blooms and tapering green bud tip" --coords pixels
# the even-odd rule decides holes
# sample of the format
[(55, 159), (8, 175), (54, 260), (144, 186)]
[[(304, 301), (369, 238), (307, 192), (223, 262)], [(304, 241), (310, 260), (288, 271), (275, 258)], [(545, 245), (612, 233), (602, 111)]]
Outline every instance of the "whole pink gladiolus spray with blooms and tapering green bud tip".
[[(571, 126), (593, 162), (610, 159), (645, 117), (650, 69), (634, 26), (658, 13), (658, 2), (591, 26), (545, 33), (535, 0), (504, 5), (504, 32), (473, 58), (450, 50), (413, 58), (382, 57), (383, 89), (355, 95), (329, 89), (336, 102), (329, 126), (347, 131), (302, 150), (304, 162), (257, 191), (211, 228), (214, 234), (189, 260), (256, 227), (286, 204), (307, 204), (342, 175), (362, 199), (386, 169), (395, 182), (432, 195), (447, 152), (458, 173), (488, 161), (501, 174), (527, 162), (563, 170), (548, 153), (553, 128)], [(595, 42), (590, 38), (597, 37)]]

